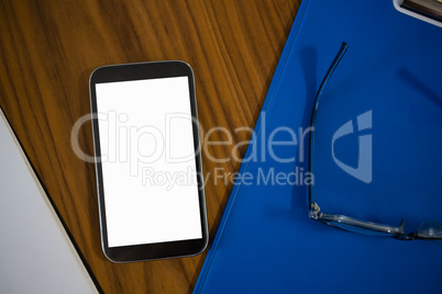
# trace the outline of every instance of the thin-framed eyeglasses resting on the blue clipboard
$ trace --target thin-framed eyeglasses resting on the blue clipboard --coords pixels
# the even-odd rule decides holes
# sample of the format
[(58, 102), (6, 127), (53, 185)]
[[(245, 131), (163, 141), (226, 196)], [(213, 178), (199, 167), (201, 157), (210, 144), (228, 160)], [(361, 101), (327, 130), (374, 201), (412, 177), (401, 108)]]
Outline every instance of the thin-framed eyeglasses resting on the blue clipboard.
[[(329, 70), (323, 78), (321, 86), (319, 87), (318, 93), (314, 98), (313, 110), (311, 111), (310, 128), (313, 129), (316, 125), (317, 112), (320, 102), (320, 98), (325, 88), (325, 84), (330, 80), (333, 71), (336, 69), (342, 57), (344, 57), (349, 45), (343, 42), (336, 57), (331, 64)], [(309, 172), (313, 173), (312, 168), (314, 167), (314, 133), (310, 133), (310, 150), (309, 150)], [(367, 220), (356, 219), (345, 215), (322, 213), (318, 203), (314, 201), (314, 186), (309, 185), (309, 217), (330, 225), (332, 227), (341, 228), (344, 230), (373, 235), (373, 236), (388, 236), (401, 240), (413, 240), (413, 239), (427, 239), (427, 240), (442, 240), (442, 224), (435, 220), (428, 220), (422, 223), (417, 231), (406, 234), (404, 229), (404, 219), (400, 222), (399, 226), (389, 226)]]

